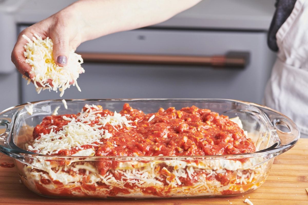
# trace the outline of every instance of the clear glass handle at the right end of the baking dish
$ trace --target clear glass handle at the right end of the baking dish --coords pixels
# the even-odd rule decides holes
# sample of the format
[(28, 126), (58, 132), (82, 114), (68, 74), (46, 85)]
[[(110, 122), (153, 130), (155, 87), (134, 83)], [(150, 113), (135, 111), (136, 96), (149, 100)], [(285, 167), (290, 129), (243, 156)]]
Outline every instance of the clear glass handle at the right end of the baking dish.
[[(300, 137), (297, 125), (287, 116), (271, 108), (258, 106), (269, 118), (280, 138), (280, 147), (293, 147)], [(286, 151), (286, 150), (285, 150)]]

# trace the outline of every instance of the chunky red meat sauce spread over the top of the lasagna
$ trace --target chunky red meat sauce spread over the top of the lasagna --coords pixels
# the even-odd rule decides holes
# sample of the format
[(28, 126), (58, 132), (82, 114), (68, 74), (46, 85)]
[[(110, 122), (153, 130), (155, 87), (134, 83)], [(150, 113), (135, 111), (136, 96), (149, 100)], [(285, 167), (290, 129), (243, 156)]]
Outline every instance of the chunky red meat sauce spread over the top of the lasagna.
[[(113, 115), (114, 113), (103, 109), (99, 113)], [(87, 108), (83, 108), (86, 111)], [(98, 111), (91, 108), (91, 111)], [(166, 110), (160, 108), (156, 113), (145, 114), (133, 109), (129, 104), (124, 104), (120, 111), (122, 116), (126, 115), (130, 123), (136, 127), (120, 126), (116, 129), (110, 124), (102, 127), (112, 134), (109, 139), (100, 140), (103, 144), (95, 146), (95, 156), (204, 156), (240, 154), (255, 151), (255, 145), (251, 139), (247, 139), (244, 131), (230, 121), (228, 116), (219, 115), (209, 109), (201, 109), (196, 106), (185, 107), (176, 110), (170, 107)], [(65, 115), (66, 117), (77, 117), (77, 115)], [(155, 117), (148, 122), (152, 115)], [(40, 137), (41, 133), (47, 134), (51, 131), (51, 125), (58, 132), (70, 121), (63, 120), (64, 115), (47, 116), (42, 123), (37, 125), (33, 131), (34, 139)], [(98, 119), (98, 117), (97, 117)], [(98, 123), (94, 120), (91, 124)], [(90, 125), (91, 125), (90, 124)], [(83, 145), (83, 148), (92, 148), (92, 145)], [(57, 155), (70, 156), (78, 150), (60, 150)], [(97, 163), (98, 170), (105, 174), (111, 167), (116, 167), (115, 161), (101, 161)]]

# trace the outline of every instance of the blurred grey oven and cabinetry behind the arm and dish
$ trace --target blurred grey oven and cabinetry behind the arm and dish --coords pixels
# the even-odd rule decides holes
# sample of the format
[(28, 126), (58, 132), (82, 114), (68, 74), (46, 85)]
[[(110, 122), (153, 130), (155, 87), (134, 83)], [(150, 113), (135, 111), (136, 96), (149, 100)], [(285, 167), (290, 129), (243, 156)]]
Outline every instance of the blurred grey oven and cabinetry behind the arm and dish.
[[(37, 94), (33, 84), (26, 85), (10, 55), (20, 31), (72, 2), (0, 0), (0, 110), (60, 98), (54, 91)], [(261, 103), (275, 60), (266, 43), (274, 3), (203, 0), (161, 24), (87, 41), (76, 51), (85, 61), (85, 73), (78, 79), (82, 92), (71, 87), (63, 98), (228, 98)], [(127, 54), (136, 60), (126, 62)], [(152, 60), (138, 61), (144, 54)]]

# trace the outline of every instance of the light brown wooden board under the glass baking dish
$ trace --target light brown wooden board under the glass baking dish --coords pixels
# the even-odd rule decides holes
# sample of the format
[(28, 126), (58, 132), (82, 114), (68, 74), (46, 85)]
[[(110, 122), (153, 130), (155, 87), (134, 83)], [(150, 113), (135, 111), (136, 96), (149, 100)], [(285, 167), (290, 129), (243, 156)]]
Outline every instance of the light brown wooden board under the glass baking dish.
[[(2, 162), (12, 162), (6, 155), (0, 155)], [(308, 205), (308, 139), (300, 139), (294, 148), (278, 156), (266, 182), (257, 190), (244, 196), (219, 198), (179, 199), (50, 199), (29, 191), (19, 182), (16, 168), (0, 167), (0, 204), (242, 204), (248, 198), (254, 205)]]

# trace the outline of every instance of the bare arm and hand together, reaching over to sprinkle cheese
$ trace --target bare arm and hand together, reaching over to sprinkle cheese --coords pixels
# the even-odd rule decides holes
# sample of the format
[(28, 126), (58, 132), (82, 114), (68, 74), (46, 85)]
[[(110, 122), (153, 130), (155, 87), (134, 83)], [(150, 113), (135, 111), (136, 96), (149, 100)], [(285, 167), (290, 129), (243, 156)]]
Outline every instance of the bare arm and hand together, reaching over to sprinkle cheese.
[(22, 75), (33, 77), (23, 56), (26, 40), (22, 34), (30, 38), (34, 33), (51, 37), (53, 58), (59, 66), (65, 66), (69, 51), (76, 50), (84, 41), (163, 22), (200, 1), (80, 0), (23, 30), (13, 49), (12, 61)]

